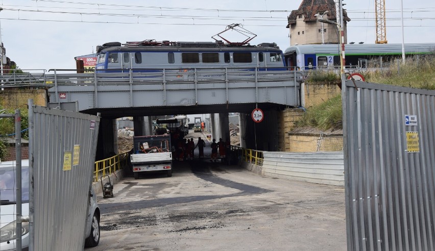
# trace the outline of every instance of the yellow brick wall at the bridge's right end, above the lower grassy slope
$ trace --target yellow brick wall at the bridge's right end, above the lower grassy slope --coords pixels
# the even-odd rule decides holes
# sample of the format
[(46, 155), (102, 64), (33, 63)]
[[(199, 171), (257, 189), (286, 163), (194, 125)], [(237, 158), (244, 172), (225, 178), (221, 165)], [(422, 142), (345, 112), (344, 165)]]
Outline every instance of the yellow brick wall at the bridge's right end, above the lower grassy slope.
[(335, 82), (305, 83), (305, 108), (321, 104), (341, 93)]

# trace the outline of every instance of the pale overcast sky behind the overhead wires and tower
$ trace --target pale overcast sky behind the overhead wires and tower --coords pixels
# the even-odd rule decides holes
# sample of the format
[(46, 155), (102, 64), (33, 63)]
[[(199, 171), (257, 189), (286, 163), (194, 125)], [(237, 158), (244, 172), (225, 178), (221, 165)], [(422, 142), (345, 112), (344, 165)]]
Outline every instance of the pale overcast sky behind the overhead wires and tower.
[[(287, 16), (301, 0), (0, 0), (2, 41), (21, 69), (74, 69), (74, 57), (105, 42), (214, 41), (231, 23), (257, 35), (251, 44), (289, 46)], [(344, 0), (348, 41), (374, 43), (374, 0)], [(435, 1), (403, 0), (405, 43), (435, 42)], [(401, 43), (400, 0), (386, 0), (386, 37)], [(320, 24), (319, 24), (320, 26)], [(243, 41), (235, 32), (224, 37)]]

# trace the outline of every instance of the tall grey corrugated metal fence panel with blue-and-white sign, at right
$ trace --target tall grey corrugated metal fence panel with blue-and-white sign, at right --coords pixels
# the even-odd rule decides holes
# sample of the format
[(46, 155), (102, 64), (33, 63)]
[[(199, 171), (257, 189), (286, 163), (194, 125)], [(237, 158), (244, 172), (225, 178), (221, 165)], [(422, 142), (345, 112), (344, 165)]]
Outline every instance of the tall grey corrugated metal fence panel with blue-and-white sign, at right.
[(356, 83), (343, 102), (348, 250), (434, 250), (435, 92)]

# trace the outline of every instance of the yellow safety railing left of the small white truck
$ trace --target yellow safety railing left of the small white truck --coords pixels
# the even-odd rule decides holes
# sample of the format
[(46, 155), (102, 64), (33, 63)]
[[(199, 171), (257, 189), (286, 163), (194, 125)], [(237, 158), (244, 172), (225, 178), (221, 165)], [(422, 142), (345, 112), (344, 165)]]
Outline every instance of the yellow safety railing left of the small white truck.
[(93, 181), (98, 182), (99, 177), (109, 175), (116, 170), (122, 169), (127, 165), (129, 153), (118, 154), (113, 157), (95, 161), (95, 170), (93, 172)]

